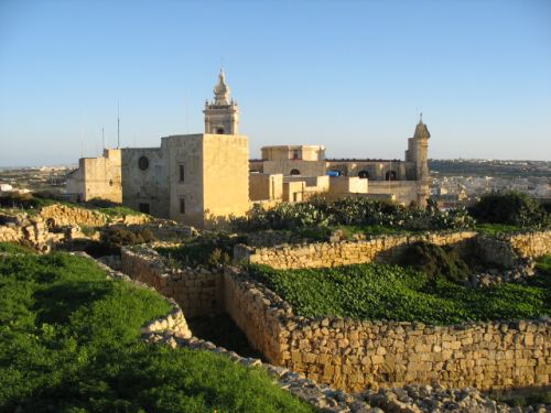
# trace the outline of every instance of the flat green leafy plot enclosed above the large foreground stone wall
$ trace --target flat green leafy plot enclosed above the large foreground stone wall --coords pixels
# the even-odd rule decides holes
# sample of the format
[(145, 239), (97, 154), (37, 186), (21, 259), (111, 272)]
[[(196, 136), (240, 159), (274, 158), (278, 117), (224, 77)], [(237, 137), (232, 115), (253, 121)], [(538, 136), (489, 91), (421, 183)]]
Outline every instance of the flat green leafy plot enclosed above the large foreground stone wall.
[(530, 285), (503, 283), (467, 289), (410, 269), (357, 264), (333, 269), (273, 270), (251, 265), (250, 274), (273, 290), (302, 316), (423, 322), (521, 319), (551, 314), (551, 259)]

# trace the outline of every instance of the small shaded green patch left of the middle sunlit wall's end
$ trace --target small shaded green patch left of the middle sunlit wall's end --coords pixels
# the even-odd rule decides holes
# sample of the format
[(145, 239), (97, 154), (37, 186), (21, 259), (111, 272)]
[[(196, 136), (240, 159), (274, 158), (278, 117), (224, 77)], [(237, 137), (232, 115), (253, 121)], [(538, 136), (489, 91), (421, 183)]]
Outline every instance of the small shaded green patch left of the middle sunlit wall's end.
[(226, 232), (204, 233), (185, 240), (179, 247), (162, 247), (156, 248), (156, 251), (175, 261), (175, 265), (218, 268), (231, 262), (234, 246), (244, 241), (242, 237)]

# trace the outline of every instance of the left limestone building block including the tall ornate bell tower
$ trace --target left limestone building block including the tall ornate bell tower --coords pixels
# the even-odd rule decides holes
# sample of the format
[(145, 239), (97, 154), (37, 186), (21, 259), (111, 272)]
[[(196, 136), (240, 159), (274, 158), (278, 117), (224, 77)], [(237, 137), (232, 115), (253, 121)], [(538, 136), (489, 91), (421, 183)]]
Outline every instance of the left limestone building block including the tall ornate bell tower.
[[(220, 72), (205, 107), (205, 133), (171, 135), (159, 148), (107, 150), (82, 159), (67, 193), (106, 198), (186, 225), (210, 227), (249, 209), (249, 140), (238, 134), (239, 111)], [(114, 185), (111, 185), (111, 182)]]

